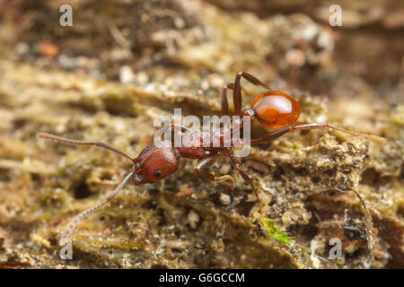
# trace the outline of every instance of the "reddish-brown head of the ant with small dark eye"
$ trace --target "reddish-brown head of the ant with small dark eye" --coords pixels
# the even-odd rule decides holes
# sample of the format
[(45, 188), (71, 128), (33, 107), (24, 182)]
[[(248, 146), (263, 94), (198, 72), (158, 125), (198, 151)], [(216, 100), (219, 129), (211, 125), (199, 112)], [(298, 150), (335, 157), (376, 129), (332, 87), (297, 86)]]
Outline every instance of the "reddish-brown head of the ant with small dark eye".
[(132, 180), (135, 185), (154, 183), (175, 172), (179, 159), (171, 142), (150, 143), (134, 160)]

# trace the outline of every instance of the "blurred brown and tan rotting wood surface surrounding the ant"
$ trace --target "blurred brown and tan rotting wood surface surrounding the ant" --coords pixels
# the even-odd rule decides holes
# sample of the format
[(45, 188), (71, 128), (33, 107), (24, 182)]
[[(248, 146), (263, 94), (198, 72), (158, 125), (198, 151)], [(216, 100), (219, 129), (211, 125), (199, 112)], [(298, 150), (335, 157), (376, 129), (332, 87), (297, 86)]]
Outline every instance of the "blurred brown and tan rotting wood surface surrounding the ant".
[[(76, 231), (77, 259), (68, 265), (403, 267), (404, 2), (338, 1), (341, 26), (331, 26), (334, 2), (0, 0), (2, 265), (66, 265), (57, 257), (56, 243), (66, 221), (98, 202), (130, 168), (108, 152), (37, 143), (36, 133), (99, 139), (136, 155), (153, 140), (155, 117), (171, 117), (174, 108), (183, 115), (219, 113), (223, 85), (244, 71), (296, 97), (302, 123), (329, 121), (389, 138), (384, 146), (371, 143), (370, 150), (350, 139), (354, 167), (334, 157), (336, 165), (314, 170), (321, 175), (308, 179), (319, 187), (342, 181), (347, 189), (359, 186), (368, 200), (381, 204), (373, 211), (379, 253), (372, 263), (365, 264), (366, 242), (359, 239), (346, 237), (348, 251), (340, 265), (258, 242), (262, 234), (246, 223), (253, 211), (248, 187), (236, 190), (228, 204), (225, 196), (233, 196), (228, 188), (200, 184), (191, 162), (165, 186), (127, 187), (117, 203), (83, 223)], [(71, 26), (61, 25), (68, 19), (68, 11), (60, 11), (63, 4), (72, 7)], [(243, 85), (251, 96), (261, 91)], [(244, 97), (246, 106), (251, 99)], [(265, 132), (254, 126), (254, 135)], [(347, 209), (355, 209), (355, 220), (364, 218), (355, 196), (309, 198), (319, 192), (317, 186), (303, 190), (289, 184), (302, 185), (296, 177), (311, 172), (309, 161), (299, 166), (291, 154), (310, 149), (321, 135), (287, 135), (285, 142), (264, 146), (262, 152), (271, 153), (257, 150), (244, 163), (263, 181), (270, 217), (304, 248), (317, 242), (320, 251), (310, 252), (322, 258), (329, 236), (343, 232)], [(338, 138), (332, 147), (324, 142), (322, 150), (351, 151), (346, 139)], [(327, 154), (332, 152), (324, 158)], [(310, 161), (318, 158), (311, 156)], [(231, 172), (227, 161), (215, 169)], [(285, 201), (275, 199), (277, 194)], [(333, 204), (319, 207), (325, 202)], [(226, 228), (227, 236), (220, 235)], [(254, 234), (235, 241), (249, 232)], [(93, 239), (94, 234), (103, 239)]]

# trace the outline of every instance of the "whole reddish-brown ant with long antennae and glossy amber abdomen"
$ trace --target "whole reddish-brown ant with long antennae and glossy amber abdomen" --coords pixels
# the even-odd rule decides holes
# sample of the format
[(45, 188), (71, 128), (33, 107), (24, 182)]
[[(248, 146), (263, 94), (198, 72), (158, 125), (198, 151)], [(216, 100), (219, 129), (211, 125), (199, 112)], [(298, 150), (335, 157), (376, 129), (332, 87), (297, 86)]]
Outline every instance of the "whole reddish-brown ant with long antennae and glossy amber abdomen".
[[(242, 109), (242, 86), (240, 83), (242, 78), (252, 84), (263, 86), (268, 89), (268, 91), (260, 93), (254, 100), (252, 100), (251, 109)], [(229, 105), (227, 100), (228, 90), (233, 90), (233, 105), (235, 115), (242, 118), (238, 121), (233, 120), (233, 126), (242, 127), (246, 121), (251, 122), (255, 119), (258, 119), (259, 123), (262, 126), (274, 130), (272, 132), (269, 132), (267, 135), (262, 135), (258, 138), (250, 139), (249, 143), (268, 143), (275, 140), (281, 135), (285, 135), (295, 130), (309, 130), (316, 128), (331, 128), (350, 135), (385, 141), (384, 138), (379, 136), (358, 134), (343, 130), (336, 126), (330, 126), (325, 123), (292, 126), (300, 115), (300, 106), (297, 101), (283, 91), (270, 91), (265, 83), (262, 83), (256, 77), (245, 72), (237, 73), (234, 83), (229, 83), (224, 86), (222, 92), (223, 115), (229, 115)], [(182, 144), (180, 147), (174, 147), (170, 141), (162, 141), (165, 143), (163, 144), (163, 146), (157, 146), (155, 143), (150, 143), (142, 152), (140, 152), (137, 158), (132, 158), (127, 155), (127, 153), (121, 152), (107, 143), (75, 141), (59, 137), (57, 135), (49, 135), (45, 133), (40, 133), (37, 135), (37, 138), (58, 143), (96, 145), (112, 152), (117, 152), (133, 162), (132, 170), (127, 174), (125, 178), (120, 181), (118, 187), (115, 187), (115, 189), (110, 193), (110, 195), (106, 197), (103, 202), (75, 216), (75, 218), (72, 220), (72, 222), (69, 223), (69, 225), (66, 227), (66, 230), (62, 234), (62, 237), (59, 241), (61, 245), (65, 244), (66, 239), (75, 228), (75, 225), (80, 222), (84, 216), (109, 203), (110, 200), (117, 196), (122, 187), (124, 187), (124, 185), (127, 183), (127, 180), (132, 178), (132, 181), (135, 185), (143, 185), (145, 183), (153, 184), (157, 181), (162, 180), (162, 178), (166, 178), (167, 176), (178, 170), (181, 158), (200, 160), (198, 165), (194, 169), (196, 172), (198, 172), (198, 174), (206, 179), (215, 182), (230, 180), (232, 182), (233, 189), (234, 178), (232, 176), (224, 175), (217, 177), (215, 176), (214, 172), (208, 172), (205, 170), (206, 167), (215, 163), (216, 159), (221, 154), (228, 156), (231, 159), (234, 170), (237, 170), (241, 174), (242, 178), (252, 188), (255, 196), (257, 197), (260, 213), (263, 217), (265, 217), (265, 210), (259, 200), (259, 195), (256, 187), (254, 187), (250, 177), (245, 171), (241, 170), (240, 164), (235, 160), (232, 150), (232, 146), (235, 145), (235, 142), (232, 140), (230, 147), (224, 146), (224, 138), (231, 135), (232, 133), (231, 129), (228, 126), (221, 127), (218, 131), (211, 133), (200, 132), (187, 126), (180, 126), (176, 124), (171, 124), (170, 128), (171, 130), (180, 130), (182, 133), (185, 133), (181, 135)], [(212, 143), (214, 140), (219, 139), (220, 146), (215, 147), (213, 145), (206, 146), (206, 144), (201, 144), (202, 140), (204, 138), (206, 139), (206, 137), (210, 140), (210, 143)]]

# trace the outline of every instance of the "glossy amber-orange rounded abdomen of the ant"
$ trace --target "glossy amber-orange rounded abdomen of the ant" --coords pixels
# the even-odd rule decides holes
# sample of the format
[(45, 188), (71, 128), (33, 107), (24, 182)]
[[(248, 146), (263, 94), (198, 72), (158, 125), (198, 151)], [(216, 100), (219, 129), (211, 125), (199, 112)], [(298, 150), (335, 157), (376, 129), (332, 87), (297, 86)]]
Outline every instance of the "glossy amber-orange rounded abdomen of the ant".
[(251, 109), (262, 126), (280, 129), (291, 126), (300, 115), (294, 98), (282, 91), (266, 91), (252, 100)]

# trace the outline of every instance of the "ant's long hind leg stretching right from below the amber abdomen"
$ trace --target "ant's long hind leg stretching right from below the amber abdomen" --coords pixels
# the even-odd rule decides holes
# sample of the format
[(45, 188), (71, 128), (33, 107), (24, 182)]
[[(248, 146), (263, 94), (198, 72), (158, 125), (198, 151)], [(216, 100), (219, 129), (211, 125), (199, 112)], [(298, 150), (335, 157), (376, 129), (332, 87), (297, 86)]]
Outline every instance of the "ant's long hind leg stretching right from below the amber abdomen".
[(270, 132), (267, 135), (262, 135), (258, 138), (250, 140), (250, 143), (268, 143), (270, 141), (275, 140), (281, 135), (285, 135), (289, 132), (293, 132), (294, 130), (309, 130), (309, 129), (316, 129), (316, 128), (332, 128), (335, 130), (338, 130), (339, 132), (343, 132), (349, 135), (355, 135), (355, 136), (361, 136), (365, 137), (368, 139), (373, 139), (376, 141), (382, 141), (385, 142), (386, 139), (377, 135), (365, 135), (365, 134), (359, 134), (351, 131), (347, 131), (345, 129), (336, 127), (336, 126), (330, 126), (328, 124), (307, 124), (307, 125), (300, 125), (300, 126), (287, 126), (285, 128), (278, 129), (276, 131)]

